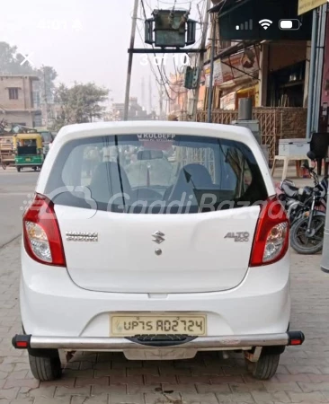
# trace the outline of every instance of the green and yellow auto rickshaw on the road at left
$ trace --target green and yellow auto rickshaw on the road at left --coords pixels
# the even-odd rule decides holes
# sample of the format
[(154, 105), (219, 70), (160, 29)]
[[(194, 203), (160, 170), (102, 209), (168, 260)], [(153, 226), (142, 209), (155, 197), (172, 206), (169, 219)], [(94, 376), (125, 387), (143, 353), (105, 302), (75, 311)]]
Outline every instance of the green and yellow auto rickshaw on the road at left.
[(43, 164), (42, 136), (38, 133), (18, 134), (13, 138), (17, 171), (31, 167), (34, 171)]

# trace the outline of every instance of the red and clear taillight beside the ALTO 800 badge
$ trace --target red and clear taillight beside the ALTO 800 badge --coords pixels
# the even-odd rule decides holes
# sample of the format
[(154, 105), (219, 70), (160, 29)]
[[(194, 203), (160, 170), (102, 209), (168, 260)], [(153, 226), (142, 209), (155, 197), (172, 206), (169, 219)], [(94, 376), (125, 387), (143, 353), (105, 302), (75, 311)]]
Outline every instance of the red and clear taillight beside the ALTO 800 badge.
[(277, 197), (267, 199), (262, 206), (250, 267), (260, 267), (279, 261), (289, 248), (289, 219)]

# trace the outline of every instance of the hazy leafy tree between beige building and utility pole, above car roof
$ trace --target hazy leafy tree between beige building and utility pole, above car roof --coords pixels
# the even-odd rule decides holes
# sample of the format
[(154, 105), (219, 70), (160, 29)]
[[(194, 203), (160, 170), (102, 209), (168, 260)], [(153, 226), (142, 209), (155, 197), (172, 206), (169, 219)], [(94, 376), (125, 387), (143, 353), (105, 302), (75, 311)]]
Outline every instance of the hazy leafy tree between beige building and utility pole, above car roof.
[(73, 87), (59, 84), (55, 92), (55, 102), (60, 105), (55, 119), (54, 130), (75, 123), (92, 122), (101, 119), (105, 107), (101, 104), (108, 98), (109, 90), (95, 83), (75, 83)]

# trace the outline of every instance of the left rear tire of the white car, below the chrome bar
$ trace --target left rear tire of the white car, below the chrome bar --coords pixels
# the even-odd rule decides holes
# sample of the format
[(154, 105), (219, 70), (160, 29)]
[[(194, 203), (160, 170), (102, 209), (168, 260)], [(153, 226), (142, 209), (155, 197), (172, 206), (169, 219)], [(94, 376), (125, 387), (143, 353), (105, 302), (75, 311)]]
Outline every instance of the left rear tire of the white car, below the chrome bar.
[(29, 354), (31, 373), (40, 382), (57, 380), (62, 375), (59, 354), (53, 356), (32, 356)]

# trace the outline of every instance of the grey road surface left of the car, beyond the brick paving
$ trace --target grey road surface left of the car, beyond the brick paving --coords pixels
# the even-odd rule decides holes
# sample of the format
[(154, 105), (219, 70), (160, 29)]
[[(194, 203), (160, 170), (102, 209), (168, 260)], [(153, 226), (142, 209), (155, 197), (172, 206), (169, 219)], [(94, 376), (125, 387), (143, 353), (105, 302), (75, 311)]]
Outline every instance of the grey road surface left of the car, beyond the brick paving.
[(0, 168), (0, 248), (21, 233), (22, 209), (32, 194), (38, 172)]

